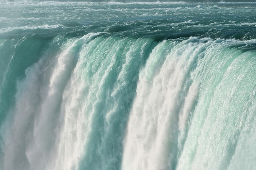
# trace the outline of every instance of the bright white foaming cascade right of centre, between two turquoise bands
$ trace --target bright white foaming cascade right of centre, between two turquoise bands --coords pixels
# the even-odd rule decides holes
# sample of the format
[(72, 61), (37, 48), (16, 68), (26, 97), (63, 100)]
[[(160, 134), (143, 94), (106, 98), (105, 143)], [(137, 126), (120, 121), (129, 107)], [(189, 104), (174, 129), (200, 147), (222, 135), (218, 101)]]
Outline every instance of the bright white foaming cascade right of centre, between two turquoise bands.
[[(175, 164), (179, 152), (175, 145), (180, 142), (175, 139), (181, 136), (179, 139), (183, 140), (186, 135), (184, 131), (198, 95), (198, 85), (189, 84), (189, 71), (209, 44), (193, 38), (173, 48), (171, 44), (162, 42), (156, 46), (139, 74), (137, 97), (124, 141), (123, 170), (164, 170)], [(168, 48), (171, 51), (161, 55)]]

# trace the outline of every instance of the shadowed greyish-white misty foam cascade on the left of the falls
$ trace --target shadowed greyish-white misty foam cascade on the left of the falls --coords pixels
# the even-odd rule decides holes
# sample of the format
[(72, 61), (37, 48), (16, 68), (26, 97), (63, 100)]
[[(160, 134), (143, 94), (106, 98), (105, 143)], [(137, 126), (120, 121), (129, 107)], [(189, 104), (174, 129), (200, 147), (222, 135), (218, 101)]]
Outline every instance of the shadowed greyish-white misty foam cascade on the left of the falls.
[[(4, 169), (17, 170), (18, 167), (26, 170), (63, 169), (56, 166), (56, 161), (63, 160), (64, 157), (58, 155), (63, 153), (59, 152), (60, 143), (65, 141), (60, 140), (63, 139), (62, 120), (70, 119), (65, 113), (69, 110), (59, 109), (66, 100), (65, 96), (63, 98), (63, 90), (69, 82), (75, 66), (75, 57), (81, 46), (95, 35), (97, 36), (97, 34), (89, 34), (77, 40), (68, 40), (64, 50), (55, 58), (47, 56), (50, 55), (47, 53), (39, 62), (26, 70), (25, 79), (18, 83), (16, 104), (12, 114), (9, 114), (13, 115), (13, 118), (10, 118), (11, 128), (7, 133), (9, 135), (4, 137)], [(72, 102), (71, 106), (75, 107), (77, 103)], [(81, 131), (80, 125), (77, 126), (77, 131)], [(70, 130), (67, 132), (69, 133)], [(72, 142), (75, 141), (65, 141), (66, 146), (72, 146), (70, 142), (73, 144)], [(80, 149), (76, 148), (77, 150)], [(65, 150), (63, 154), (70, 155), (69, 151)], [(72, 157), (77, 159), (74, 155)]]

